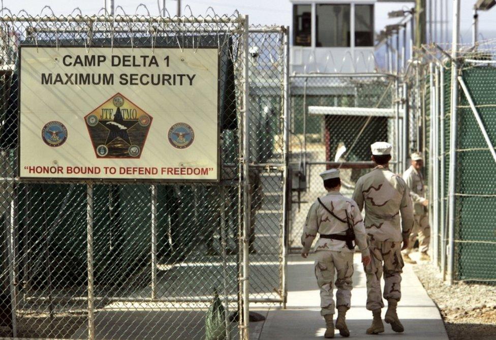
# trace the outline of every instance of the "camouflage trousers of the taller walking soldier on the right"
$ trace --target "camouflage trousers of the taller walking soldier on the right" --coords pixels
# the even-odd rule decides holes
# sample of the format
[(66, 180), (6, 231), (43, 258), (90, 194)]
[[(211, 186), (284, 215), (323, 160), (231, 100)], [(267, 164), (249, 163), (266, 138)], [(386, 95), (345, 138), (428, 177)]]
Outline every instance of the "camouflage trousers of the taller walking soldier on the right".
[(401, 299), (401, 242), (370, 241), (370, 263), (365, 267), (367, 276), (367, 310), (384, 307), (381, 294), (381, 277), (384, 273), (384, 298)]

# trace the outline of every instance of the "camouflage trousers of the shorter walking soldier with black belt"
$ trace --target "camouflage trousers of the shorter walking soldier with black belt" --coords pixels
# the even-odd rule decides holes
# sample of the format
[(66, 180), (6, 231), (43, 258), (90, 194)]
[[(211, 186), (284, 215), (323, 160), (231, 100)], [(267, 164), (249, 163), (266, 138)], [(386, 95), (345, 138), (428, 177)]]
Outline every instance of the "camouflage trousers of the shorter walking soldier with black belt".
[[(315, 259), (315, 277), (320, 288), (320, 315), (334, 314), (334, 307), (346, 306), (350, 308), (352, 276), (353, 276), (353, 253), (320, 251)], [(335, 286), (336, 304), (332, 291), (334, 274), (336, 275)]]

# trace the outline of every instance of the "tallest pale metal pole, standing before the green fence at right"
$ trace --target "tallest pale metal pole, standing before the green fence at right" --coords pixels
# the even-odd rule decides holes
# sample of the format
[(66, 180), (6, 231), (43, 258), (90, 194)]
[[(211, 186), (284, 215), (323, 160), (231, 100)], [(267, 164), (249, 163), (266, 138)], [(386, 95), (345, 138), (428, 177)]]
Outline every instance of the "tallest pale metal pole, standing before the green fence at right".
[(457, 48), (460, 33), (460, 0), (453, 0), (453, 36), (451, 47), (451, 127), (450, 127), (450, 164), (449, 164), (449, 259), (448, 285), (453, 284), (455, 265), (455, 191), (456, 191), (456, 145), (457, 145), (457, 107), (458, 107), (458, 75)]

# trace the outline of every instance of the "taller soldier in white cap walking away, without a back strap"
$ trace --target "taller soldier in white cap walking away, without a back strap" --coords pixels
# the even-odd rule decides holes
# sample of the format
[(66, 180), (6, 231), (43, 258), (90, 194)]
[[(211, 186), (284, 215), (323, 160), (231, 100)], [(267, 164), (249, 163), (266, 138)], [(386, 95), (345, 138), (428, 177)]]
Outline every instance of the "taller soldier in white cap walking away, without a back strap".
[[(371, 262), (365, 266), (367, 276), (367, 310), (374, 320), (367, 334), (384, 332), (381, 320), (381, 276), (384, 273), (384, 298), (388, 309), (384, 317), (395, 332), (404, 331), (396, 314), (401, 298), (401, 273), (404, 266), (401, 249), (408, 246), (413, 225), (413, 206), (405, 181), (388, 169), (391, 144), (377, 142), (371, 145), (374, 170), (360, 177), (356, 183), (353, 200), (361, 210), (365, 205), (365, 230), (369, 237)], [(400, 216), (401, 213), (401, 226)], [(403, 246), (401, 247), (401, 241)]]

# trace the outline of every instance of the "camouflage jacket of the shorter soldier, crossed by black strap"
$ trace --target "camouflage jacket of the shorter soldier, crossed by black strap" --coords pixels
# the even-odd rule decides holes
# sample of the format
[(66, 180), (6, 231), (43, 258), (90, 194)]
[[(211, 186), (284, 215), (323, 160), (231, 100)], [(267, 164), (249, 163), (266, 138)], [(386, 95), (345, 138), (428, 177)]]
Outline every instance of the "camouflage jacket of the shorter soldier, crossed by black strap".
[[(326, 196), (320, 197), (322, 203), (331, 210), (338, 218), (346, 220), (346, 212), (350, 223), (353, 224), (355, 231), (355, 242), (362, 252), (363, 256), (368, 256), (367, 236), (365, 235), (365, 227), (363, 225), (362, 214), (357, 207), (357, 204), (350, 198), (344, 197), (338, 191), (330, 191)], [(317, 233), (319, 234), (345, 234), (348, 225), (340, 222), (333, 217), (327, 210), (315, 201), (308, 210), (306, 222), (301, 235), (301, 244), (303, 245), (303, 253), (308, 253), (312, 242)], [(333, 240), (329, 238), (320, 238), (316, 244), (316, 250), (330, 250), (338, 252), (353, 252), (348, 249), (345, 241)]]

